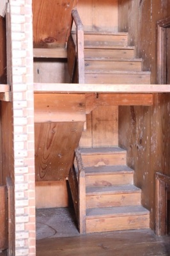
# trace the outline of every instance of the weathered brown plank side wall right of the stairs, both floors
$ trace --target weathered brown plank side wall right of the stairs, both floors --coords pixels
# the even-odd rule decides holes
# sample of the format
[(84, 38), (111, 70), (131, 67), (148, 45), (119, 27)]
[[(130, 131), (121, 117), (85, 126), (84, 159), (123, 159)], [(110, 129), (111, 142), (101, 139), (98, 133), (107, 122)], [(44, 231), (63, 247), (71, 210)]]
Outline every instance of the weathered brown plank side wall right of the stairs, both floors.
[[(156, 22), (170, 16), (168, 0), (118, 1), (120, 31), (129, 32), (129, 43), (136, 56), (143, 58), (143, 69), (151, 70), (156, 83)], [(143, 189), (142, 203), (151, 211), (155, 226), (155, 172), (170, 175), (170, 93), (154, 96), (151, 107), (119, 108), (119, 143), (127, 149), (128, 166), (135, 170), (135, 184)]]

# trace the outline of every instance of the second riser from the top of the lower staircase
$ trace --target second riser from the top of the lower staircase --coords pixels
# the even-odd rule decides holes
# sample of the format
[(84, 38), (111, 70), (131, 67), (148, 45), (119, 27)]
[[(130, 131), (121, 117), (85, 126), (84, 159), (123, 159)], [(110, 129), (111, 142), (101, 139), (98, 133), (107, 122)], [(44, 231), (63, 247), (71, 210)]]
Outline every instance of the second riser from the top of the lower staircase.
[(130, 174), (111, 174), (86, 176), (86, 186), (103, 187), (112, 185), (133, 184), (134, 175)]

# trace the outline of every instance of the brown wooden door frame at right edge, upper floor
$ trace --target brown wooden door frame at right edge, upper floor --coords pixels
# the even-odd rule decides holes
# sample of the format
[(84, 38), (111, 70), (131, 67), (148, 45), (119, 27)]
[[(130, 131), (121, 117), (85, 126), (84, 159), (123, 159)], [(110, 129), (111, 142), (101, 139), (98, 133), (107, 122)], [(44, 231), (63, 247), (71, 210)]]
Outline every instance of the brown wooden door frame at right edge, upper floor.
[(170, 28), (170, 17), (157, 22), (157, 84), (167, 83), (167, 28)]

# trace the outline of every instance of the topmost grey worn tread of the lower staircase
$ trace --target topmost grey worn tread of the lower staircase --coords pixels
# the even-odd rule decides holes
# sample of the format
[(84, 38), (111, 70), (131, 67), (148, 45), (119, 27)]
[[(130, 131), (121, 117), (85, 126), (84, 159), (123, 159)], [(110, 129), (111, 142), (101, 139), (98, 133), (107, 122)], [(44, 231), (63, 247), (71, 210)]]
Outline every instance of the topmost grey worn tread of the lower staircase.
[(94, 154), (126, 154), (126, 150), (120, 147), (110, 148), (81, 148), (81, 154), (83, 155), (94, 155)]

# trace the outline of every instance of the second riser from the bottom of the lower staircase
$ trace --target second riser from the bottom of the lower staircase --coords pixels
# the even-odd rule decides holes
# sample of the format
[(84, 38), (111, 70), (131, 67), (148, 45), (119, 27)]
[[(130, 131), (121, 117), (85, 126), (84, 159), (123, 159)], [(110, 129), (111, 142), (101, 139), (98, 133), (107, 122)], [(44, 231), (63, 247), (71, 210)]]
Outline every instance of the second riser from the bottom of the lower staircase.
[(86, 196), (86, 209), (127, 205), (141, 205), (141, 193)]

